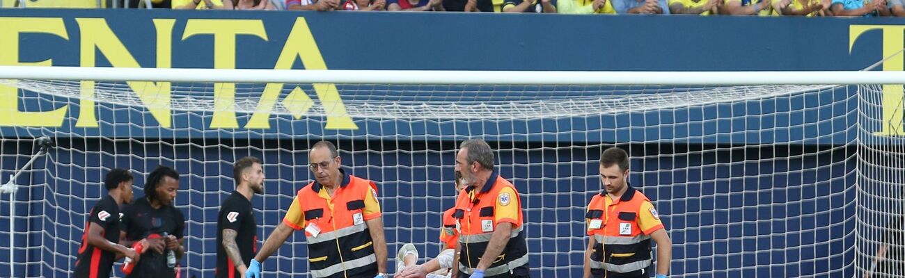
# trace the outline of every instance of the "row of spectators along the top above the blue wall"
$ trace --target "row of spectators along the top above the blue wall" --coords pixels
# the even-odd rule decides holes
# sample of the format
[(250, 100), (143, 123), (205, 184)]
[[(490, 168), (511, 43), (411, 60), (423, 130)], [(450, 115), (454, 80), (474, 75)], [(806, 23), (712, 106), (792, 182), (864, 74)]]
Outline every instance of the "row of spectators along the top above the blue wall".
[(98, 3), (102, 2), (111, 7), (218, 10), (905, 16), (905, 0), (105, 0)]

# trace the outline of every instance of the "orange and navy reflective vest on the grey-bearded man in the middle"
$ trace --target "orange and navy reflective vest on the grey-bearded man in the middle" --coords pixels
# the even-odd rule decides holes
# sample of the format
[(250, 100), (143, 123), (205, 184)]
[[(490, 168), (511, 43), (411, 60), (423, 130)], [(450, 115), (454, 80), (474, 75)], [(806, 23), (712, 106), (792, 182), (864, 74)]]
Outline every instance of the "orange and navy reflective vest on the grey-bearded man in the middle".
[[(521, 200), (518, 191), (512, 186), (512, 183), (501, 178), (496, 173), (491, 174), (491, 178), (483, 185), (480, 192), (474, 191), (475, 187), (469, 187), (459, 194), (456, 201), (455, 211), (452, 217), (460, 222), (461, 233), (459, 234), (460, 260), (459, 269), (462, 273), (471, 274), (474, 267), (478, 266), (481, 256), (487, 250), (487, 246), (491, 241), (491, 236), (496, 230), (497, 221), (495, 211), (497, 200), (500, 198), (500, 190), (510, 188), (515, 192), (516, 196), (509, 197), (509, 206), (516, 206), (519, 209), (518, 221), (524, 223), (521, 214)], [(474, 196), (474, 200), (470, 197)], [(506, 199), (503, 196), (503, 199)], [(515, 227), (513, 225), (510, 233), (509, 241), (503, 248), (500, 255), (494, 262), (488, 266), (484, 272), (486, 277), (495, 275), (509, 276), (513, 270), (519, 267), (528, 267), (528, 245), (525, 242), (525, 233), (522, 226)]]

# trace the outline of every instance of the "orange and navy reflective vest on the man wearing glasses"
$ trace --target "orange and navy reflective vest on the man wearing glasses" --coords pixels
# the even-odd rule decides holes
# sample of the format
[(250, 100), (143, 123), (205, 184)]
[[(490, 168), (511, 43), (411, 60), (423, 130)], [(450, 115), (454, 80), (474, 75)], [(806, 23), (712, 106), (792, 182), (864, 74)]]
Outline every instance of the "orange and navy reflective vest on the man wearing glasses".
[(376, 190), (373, 182), (347, 175), (329, 203), (319, 196), (316, 182), (299, 190), (306, 225), (320, 229), (317, 236), (305, 230), (312, 277), (376, 274), (374, 242), (364, 221), (365, 199), (372, 189)]

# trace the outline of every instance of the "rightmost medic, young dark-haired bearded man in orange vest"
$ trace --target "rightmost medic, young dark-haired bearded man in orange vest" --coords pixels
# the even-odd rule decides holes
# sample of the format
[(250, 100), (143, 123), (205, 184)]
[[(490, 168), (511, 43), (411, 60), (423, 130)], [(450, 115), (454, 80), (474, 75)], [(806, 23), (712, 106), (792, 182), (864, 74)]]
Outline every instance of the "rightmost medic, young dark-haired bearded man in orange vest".
[(609, 148), (600, 154), (600, 183), (585, 215), (587, 236), (585, 278), (647, 278), (651, 239), (657, 243), (656, 278), (670, 272), (672, 242), (650, 199), (628, 184), (628, 153)]

